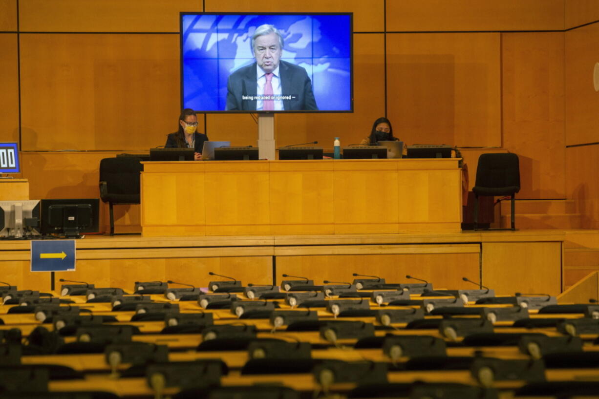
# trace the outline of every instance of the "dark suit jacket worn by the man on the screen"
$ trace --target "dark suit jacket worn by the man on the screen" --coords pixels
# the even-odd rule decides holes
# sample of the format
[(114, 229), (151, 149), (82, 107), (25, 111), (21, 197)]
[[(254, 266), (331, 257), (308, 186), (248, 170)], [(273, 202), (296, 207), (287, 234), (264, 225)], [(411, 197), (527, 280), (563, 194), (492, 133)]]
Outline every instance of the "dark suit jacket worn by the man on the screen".
[[(318, 110), (312, 83), (305, 69), (291, 64), (279, 62), (281, 75), (281, 93), (295, 95), (292, 100), (283, 100), (286, 111)], [(241, 96), (255, 96), (258, 83), (256, 81), (256, 63), (239, 68), (229, 75), (227, 82), (226, 110), (227, 111), (255, 111), (256, 101), (243, 100)]]

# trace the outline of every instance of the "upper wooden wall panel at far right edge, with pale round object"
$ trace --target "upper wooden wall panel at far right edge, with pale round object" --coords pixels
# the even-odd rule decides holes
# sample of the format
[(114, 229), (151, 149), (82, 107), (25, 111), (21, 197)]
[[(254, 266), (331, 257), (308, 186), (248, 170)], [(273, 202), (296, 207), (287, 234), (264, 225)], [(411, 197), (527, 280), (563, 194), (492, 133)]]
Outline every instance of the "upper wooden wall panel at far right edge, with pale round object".
[(593, 68), (599, 62), (599, 23), (565, 32), (566, 144), (599, 141), (599, 92)]

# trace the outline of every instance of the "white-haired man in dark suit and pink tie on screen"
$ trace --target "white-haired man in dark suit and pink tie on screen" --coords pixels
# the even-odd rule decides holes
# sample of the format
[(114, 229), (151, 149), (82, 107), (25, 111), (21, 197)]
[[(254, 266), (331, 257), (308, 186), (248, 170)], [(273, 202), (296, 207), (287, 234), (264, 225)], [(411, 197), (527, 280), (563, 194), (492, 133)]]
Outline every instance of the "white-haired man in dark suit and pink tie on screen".
[(252, 52), (256, 62), (229, 75), (227, 111), (318, 110), (305, 69), (281, 61), (283, 37), (277, 28), (256, 28)]

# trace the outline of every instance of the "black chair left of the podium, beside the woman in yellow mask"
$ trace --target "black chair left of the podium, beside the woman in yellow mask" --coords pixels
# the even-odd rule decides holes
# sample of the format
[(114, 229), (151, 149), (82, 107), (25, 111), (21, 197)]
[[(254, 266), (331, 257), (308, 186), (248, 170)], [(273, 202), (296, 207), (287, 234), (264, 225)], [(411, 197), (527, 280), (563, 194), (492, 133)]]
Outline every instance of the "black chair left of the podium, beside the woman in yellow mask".
[(114, 235), (113, 205), (140, 203), (140, 162), (135, 156), (100, 161), (100, 198), (110, 205), (110, 235)]

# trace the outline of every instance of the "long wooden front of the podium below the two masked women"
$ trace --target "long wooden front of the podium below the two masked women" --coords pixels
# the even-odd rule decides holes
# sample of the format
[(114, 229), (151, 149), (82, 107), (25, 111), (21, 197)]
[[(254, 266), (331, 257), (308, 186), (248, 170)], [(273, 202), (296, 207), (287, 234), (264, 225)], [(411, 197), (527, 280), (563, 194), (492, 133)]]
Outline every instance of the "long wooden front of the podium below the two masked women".
[(459, 232), (457, 158), (144, 162), (141, 225), (160, 235)]

